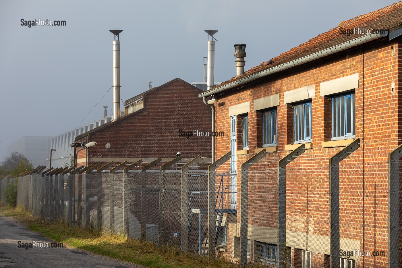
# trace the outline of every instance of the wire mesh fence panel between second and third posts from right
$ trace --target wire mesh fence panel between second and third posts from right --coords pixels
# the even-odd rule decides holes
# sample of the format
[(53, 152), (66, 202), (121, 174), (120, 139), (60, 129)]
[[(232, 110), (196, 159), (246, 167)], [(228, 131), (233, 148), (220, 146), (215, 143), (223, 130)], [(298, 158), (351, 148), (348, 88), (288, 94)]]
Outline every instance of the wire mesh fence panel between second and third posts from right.
[[(316, 161), (315, 165), (306, 165), (302, 158), (295, 159), (285, 168), (286, 246), (289, 247), (285, 253), (288, 262), (293, 261), (294, 265), (329, 267), (329, 167), (328, 159)], [(283, 254), (283, 247), (278, 254)]]

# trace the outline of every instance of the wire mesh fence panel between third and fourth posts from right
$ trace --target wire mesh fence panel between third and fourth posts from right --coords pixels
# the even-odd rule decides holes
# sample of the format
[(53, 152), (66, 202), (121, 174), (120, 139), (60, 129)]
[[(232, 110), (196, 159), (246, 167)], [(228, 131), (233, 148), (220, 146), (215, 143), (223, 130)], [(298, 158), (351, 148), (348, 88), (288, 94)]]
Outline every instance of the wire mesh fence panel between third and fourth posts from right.
[[(244, 172), (241, 171), (243, 179)], [(238, 217), (248, 218), (247, 239), (241, 241), (239, 225), (229, 220), (228, 243), (232, 248), (232, 258), (240, 257), (241, 250), (247, 250), (247, 257), (253, 262), (278, 264), (278, 169), (271, 165), (267, 169), (249, 169), (248, 175), (248, 215), (242, 215), (242, 202), (239, 202)], [(242, 200), (242, 189), (239, 198)], [(235, 216), (235, 215), (234, 215)], [(233, 217), (233, 216), (232, 216)]]

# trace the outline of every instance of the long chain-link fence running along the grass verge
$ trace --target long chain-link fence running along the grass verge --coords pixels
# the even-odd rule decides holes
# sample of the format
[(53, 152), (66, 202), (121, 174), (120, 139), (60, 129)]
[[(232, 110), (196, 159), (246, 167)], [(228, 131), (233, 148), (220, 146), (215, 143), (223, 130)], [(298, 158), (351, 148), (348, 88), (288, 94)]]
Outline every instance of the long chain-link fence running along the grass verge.
[(392, 168), (361, 155), (337, 162), (317, 155), (314, 164), (302, 154), (264, 157), (237, 172), (229, 156), (209, 170), (208, 163), (33, 173), (18, 179), (18, 204), (46, 221), (244, 265), (402, 267), (400, 225), (392, 229), (401, 215), (392, 198), (400, 195), (390, 192), (399, 161)]

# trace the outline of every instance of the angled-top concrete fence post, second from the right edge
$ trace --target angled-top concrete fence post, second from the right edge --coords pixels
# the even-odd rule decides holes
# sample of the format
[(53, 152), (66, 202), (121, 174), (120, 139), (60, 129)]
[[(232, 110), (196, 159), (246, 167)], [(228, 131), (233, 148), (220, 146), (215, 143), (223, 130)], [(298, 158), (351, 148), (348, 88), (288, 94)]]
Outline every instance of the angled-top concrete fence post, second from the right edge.
[(360, 139), (357, 138), (329, 159), (331, 268), (339, 267), (339, 163), (359, 147)]

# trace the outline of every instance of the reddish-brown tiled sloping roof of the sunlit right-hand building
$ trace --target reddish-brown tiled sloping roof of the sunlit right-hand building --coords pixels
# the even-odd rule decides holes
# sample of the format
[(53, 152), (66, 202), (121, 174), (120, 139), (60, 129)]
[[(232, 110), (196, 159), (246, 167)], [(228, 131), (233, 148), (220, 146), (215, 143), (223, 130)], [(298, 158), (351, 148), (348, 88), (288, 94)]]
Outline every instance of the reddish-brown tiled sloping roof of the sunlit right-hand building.
[(273, 68), (286, 62), (308, 56), (328, 47), (332, 47), (365, 35), (365, 33), (351, 34), (349, 36), (346, 34), (340, 34), (340, 27), (343, 29), (352, 30), (357, 27), (359, 29), (369, 29), (370, 31), (373, 29), (384, 29), (390, 32), (395, 31), (402, 27), (402, 1), (373, 12), (369, 12), (367, 14), (357, 16), (353, 19), (343, 21), (337, 27), (322, 33), (297, 47), (291, 48), (289, 51), (283, 52), (275, 58), (272, 58), (271, 60), (273, 60), (274, 63), (264, 66), (263, 62), (260, 65), (246, 71), (245, 75), (233, 77), (232, 79), (223, 82), (221, 85), (214, 87), (214, 89), (227, 85), (231, 82), (235, 82), (257, 72)]

